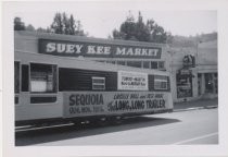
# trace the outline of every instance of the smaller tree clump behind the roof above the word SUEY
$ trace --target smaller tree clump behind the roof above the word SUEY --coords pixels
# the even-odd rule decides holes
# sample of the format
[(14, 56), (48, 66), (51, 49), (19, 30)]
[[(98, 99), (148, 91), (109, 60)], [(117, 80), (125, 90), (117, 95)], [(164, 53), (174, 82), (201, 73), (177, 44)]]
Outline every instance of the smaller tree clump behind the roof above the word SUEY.
[(51, 31), (55, 34), (86, 36), (81, 27), (80, 21), (76, 21), (72, 14), (68, 19), (65, 12), (55, 13), (51, 24)]

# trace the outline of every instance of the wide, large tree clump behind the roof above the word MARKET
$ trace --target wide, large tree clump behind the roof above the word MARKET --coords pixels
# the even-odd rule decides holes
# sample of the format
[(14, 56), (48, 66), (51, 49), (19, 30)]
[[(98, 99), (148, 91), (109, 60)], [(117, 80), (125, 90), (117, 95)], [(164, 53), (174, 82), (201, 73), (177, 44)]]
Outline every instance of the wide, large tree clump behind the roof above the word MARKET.
[(126, 21), (121, 24), (119, 31), (113, 31), (113, 38), (151, 43), (167, 43), (167, 39), (172, 39), (170, 34), (166, 33), (153, 20), (148, 20), (145, 24), (141, 12), (138, 14), (137, 22), (135, 22), (135, 17), (129, 12)]

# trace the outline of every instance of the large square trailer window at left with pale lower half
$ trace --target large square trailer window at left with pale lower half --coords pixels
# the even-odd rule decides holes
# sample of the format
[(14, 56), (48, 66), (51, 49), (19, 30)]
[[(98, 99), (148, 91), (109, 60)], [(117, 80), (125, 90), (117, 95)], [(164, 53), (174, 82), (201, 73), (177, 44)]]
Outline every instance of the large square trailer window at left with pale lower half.
[(56, 92), (56, 65), (31, 63), (30, 92), (33, 93)]

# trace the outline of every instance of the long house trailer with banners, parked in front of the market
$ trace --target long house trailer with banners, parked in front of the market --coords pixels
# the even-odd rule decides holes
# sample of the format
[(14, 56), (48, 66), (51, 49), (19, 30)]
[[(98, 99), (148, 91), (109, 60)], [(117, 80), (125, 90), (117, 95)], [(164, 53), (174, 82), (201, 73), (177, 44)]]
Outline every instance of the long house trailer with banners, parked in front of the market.
[(168, 72), (15, 48), (15, 124), (170, 112)]

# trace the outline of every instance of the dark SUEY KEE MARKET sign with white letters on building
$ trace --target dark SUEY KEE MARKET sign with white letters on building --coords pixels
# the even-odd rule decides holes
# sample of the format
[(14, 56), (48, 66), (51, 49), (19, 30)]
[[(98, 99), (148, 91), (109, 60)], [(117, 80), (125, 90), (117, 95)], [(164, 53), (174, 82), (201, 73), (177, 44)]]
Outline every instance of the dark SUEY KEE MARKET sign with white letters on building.
[(161, 47), (39, 39), (39, 52), (65, 57), (161, 59)]

